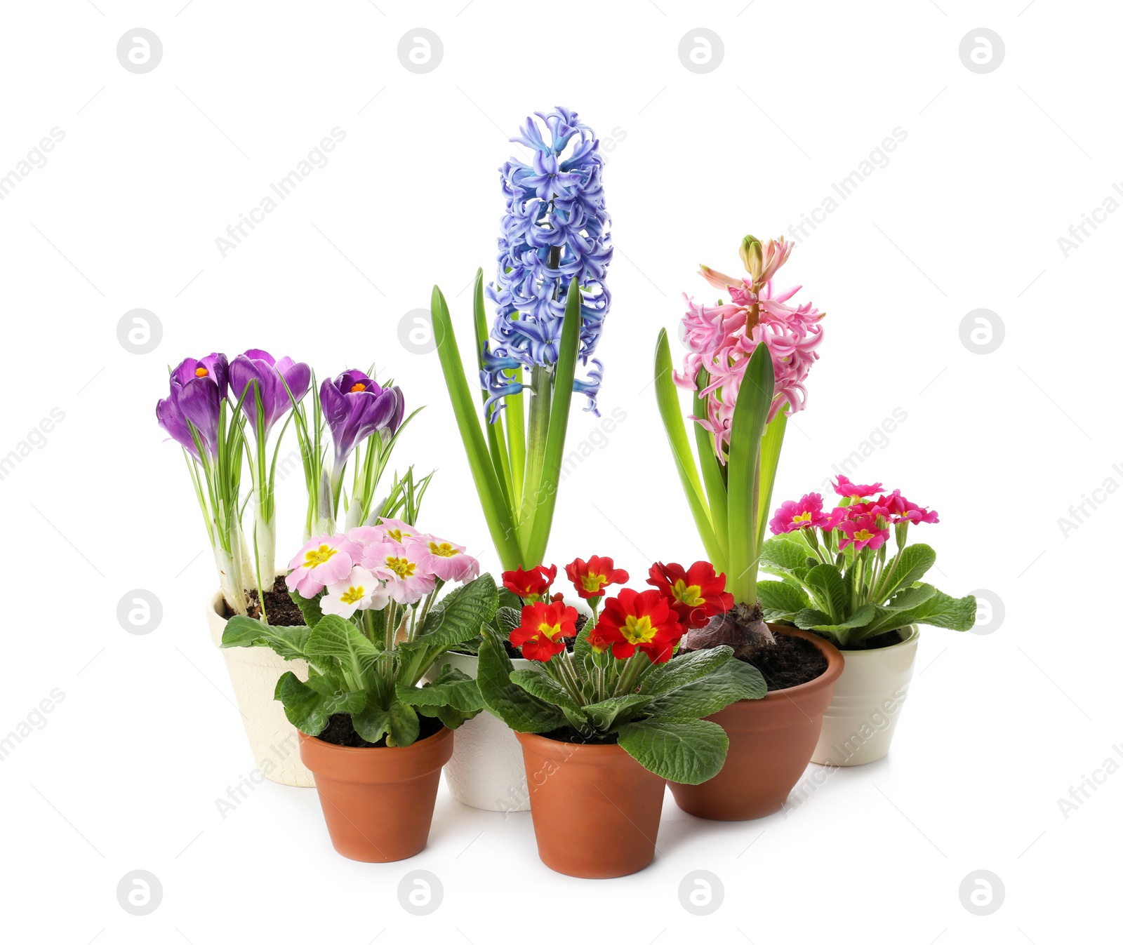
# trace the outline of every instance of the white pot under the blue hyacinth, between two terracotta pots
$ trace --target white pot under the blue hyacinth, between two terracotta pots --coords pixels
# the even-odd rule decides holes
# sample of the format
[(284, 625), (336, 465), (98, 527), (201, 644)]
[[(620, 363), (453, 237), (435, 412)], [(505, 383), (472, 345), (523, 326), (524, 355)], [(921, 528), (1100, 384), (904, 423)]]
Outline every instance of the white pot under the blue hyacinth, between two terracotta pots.
[[(451, 664), (454, 669), (476, 678), (477, 657), (445, 653), (432, 666), (429, 676)], [(529, 660), (512, 659), (515, 669), (526, 669)], [(456, 730), (453, 758), (445, 765), (445, 781), (460, 804), (481, 810), (530, 810), (527, 770), (522, 762), (522, 745), (506, 723), (484, 709)]]

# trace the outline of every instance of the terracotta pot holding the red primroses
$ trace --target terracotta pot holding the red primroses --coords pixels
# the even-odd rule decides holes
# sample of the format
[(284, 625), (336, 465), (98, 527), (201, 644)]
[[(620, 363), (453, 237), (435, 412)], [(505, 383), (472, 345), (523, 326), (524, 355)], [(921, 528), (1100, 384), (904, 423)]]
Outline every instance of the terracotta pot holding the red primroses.
[(538, 856), (583, 879), (624, 877), (655, 857), (664, 781), (619, 745), (572, 745), (517, 733)]

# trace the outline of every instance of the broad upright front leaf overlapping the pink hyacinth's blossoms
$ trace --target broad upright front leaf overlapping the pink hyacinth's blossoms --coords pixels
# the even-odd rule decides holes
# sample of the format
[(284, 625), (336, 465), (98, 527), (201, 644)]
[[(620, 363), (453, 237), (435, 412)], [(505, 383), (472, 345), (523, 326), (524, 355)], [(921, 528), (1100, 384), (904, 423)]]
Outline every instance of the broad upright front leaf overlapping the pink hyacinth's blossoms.
[(738, 604), (757, 597), (757, 506), (760, 502), (760, 440), (768, 422), (776, 377), (772, 354), (760, 343), (754, 349), (737, 392), (729, 439), (729, 581)]

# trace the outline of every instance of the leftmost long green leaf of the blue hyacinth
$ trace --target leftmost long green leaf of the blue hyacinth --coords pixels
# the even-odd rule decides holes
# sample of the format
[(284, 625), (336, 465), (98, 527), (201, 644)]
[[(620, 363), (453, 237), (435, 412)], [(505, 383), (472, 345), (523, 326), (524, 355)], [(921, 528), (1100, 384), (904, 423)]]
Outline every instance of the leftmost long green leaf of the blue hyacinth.
[(468, 382), (464, 375), (464, 363), (460, 360), (460, 352), (456, 347), (456, 333), (453, 330), (453, 319), (448, 313), (448, 303), (437, 286), (432, 287), (431, 311), (440, 368), (445, 375), (449, 400), (453, 402), (453, 413), (456, 415), (456, 425), (460, 431), (464, 451), (468, 457), (472, 479), (475, 483), (476, 493), (480, 495), (480, 504), (483, 506), (487, 530), (491, 533), (495, 551), (500, 561), (503, 562), (504, 570), (510, 570), (522, 561), (513, 516), (504, 501), (499, 476), (487, 451), (483, 431), (480, 429), (480, 418), (476, 415), (472, 392), (468, 389)]

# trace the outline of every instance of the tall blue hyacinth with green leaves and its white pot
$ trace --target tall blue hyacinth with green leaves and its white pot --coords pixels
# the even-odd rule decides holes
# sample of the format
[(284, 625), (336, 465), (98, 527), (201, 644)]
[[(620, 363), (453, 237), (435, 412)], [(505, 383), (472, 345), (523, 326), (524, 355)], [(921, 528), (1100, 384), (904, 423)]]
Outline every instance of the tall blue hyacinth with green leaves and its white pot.
[[(504, 570), (531, 571), (546, 554), (572, 395), (584, 395), (586, 410), (599, 415), (602, 366), (594, 354), (609, 311), (612, 247), (600, 141), (577, 113), (538, 112), (511, 140), (531, 157), (500, 168), (505, 211), (497, 272), (486, 290), (495, 316), (489, 336), (478, 270), (471, 382), (436, 286), (432, 328), (495, 552)], [(578, 363), (587, 368), (584, 378)], [(458, 664), (471, 675), (475, 663), (469, 653)], [(473, 807), (527, 809), (519, 746), (486, 713), (457, 737), (447, 777), (454, 796)]]

